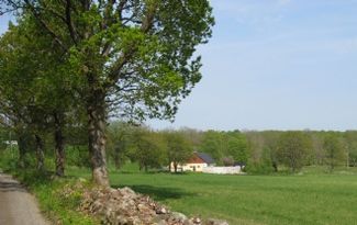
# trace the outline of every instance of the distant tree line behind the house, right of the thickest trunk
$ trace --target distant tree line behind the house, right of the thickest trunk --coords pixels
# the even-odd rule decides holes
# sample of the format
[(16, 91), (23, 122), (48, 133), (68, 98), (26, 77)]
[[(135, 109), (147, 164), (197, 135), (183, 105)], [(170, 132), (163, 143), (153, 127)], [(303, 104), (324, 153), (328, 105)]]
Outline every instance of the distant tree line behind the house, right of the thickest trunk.
[(210, 154), (220, 166), (246, 165), (248, 172), (292, 172), (303, 166), (357, 166), (357, 132), (217, 132), (182, 128), (152, 131), (113, 123), (110, 156), (115, 165), (138, 161), (142, 168), (182, 162), (193, 150)]

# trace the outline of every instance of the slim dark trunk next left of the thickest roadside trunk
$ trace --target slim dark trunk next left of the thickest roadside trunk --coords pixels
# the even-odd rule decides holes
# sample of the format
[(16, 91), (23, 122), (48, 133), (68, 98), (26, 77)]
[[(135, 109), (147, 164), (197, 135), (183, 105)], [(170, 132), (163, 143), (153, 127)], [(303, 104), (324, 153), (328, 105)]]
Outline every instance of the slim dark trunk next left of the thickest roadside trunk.
[(55, 155), (56, 155), (56, 176), (65, 176), (65, 138), (63, 135), (62, 116), (54, 113), (55, 120)]

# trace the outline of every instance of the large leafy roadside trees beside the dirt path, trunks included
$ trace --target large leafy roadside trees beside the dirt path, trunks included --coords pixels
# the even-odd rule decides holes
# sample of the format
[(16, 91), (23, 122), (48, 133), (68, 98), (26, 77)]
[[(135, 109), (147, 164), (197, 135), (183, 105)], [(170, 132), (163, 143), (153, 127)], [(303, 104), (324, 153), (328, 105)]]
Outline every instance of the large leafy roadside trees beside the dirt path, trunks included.
[(33, 143), (43, 170), (51, 133), (63, 176), (65, 139), (86, 131), (100, 185), (110, 115), (172, 119), (201, 78), (193, 55), (214, 23), (208, 0), (0, 0), (3, 13), (16, 23), (0, 40), (0, 123), (16, 134), (19, 165)]

